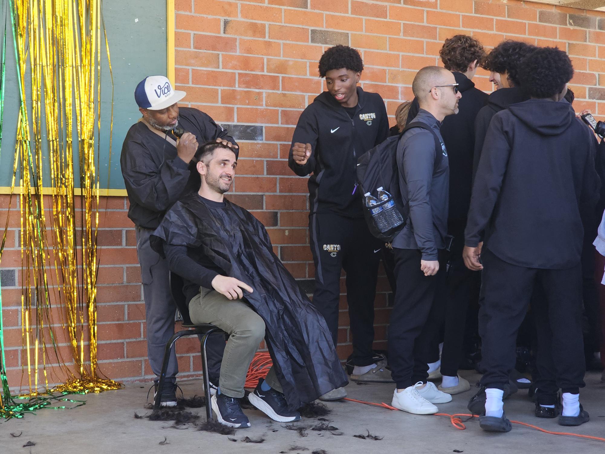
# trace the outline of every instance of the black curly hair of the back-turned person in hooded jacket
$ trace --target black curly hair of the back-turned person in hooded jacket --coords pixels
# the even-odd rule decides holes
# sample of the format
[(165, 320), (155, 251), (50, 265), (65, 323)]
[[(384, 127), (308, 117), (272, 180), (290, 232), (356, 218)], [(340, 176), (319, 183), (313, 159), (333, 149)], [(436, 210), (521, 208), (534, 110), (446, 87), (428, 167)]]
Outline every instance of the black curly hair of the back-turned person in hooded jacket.
[(574, 77), (574, 67), (559, 48), (540, 47), (523, 58), (518, 77), (529, 96), (544, 99), (563, 91)]

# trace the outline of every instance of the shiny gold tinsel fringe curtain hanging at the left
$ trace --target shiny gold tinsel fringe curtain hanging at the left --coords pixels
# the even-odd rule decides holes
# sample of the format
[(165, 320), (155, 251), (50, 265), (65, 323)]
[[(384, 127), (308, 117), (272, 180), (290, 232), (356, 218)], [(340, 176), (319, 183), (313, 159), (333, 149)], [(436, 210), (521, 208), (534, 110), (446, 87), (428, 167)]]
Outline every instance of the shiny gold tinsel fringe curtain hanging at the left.
[[(21, 217), (27, 395), (47, 392), (48, 364), (58, 364), (68, 377), (54, 391), (118, 389), (120, 384), (103, 377), (97, 366), (97, 168), (100, 154), (111, 150), (111, 142), (99, 150), (98, 134), (112, 122), (102, 123), (100, 116), (102, 46), (110, 55), (102, 2), (8, 0), (8, 8), (21, 97), (19, 112), (10, 113), (19, 120), (9, 215)], [(45, 173), (50, 173), (46, 188)], [(74, 196), (76, 182), (79, 196)], [(3, 249), (4, 240), (0, 265)], [(70, 343), (66, 351), (58, 346), (62, 337)]]

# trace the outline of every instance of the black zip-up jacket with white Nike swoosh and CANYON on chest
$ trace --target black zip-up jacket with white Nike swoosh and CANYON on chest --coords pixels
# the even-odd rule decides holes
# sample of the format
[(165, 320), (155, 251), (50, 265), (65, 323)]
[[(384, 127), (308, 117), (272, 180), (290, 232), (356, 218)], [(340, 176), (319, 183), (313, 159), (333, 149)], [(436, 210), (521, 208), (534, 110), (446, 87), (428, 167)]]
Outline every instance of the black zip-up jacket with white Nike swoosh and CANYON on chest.
[[(361, 191), (356, 189), (357, 159), (388, 136), (387, 110), (378, 93), (357, 87), (359, 102), (353, 119), (328, 92), (319, 94), (302, 112), (295, 142), (310, 143), (305, 165), (290, 157), (288, 165), (298, 176), (309, 178), (309, 211), (333, 212), (345, 217), (363, 217)], [(355, 191), (355, 194), (353, 194)]]

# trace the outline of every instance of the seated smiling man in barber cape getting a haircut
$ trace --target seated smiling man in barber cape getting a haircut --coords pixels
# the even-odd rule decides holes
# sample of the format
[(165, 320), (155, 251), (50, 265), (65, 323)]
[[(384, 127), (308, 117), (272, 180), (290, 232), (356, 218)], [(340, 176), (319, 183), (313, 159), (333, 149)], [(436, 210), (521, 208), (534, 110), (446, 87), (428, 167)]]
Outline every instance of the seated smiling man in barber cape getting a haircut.
[(185, 279), (194, 323), (211, 323), (229, 340), (212, 409), (221, 424), (250, 427), (241, 411), (250, 361), (263, 340), (273, 367), (248, 399), (275, 421), (347, 384), (324, 318), (273, 253), (264, 226), (225, 200), (237, 151), (208, 142), (194, 156), (200, 190), (175, 203), (152, 236), (152, 246)]

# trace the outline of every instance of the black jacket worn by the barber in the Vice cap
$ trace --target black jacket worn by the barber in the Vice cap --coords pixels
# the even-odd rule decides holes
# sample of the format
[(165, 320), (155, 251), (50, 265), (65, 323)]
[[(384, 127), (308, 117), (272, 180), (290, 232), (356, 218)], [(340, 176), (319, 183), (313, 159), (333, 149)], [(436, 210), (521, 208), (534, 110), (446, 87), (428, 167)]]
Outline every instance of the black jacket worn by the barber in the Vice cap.
[[(235, 143), (208, 114), (191, 107), (178, 108), (178, 125), (194, 134), (200, 145), (218, 137)], [(130, 202), (128, 217), (140, 227), (159, 226), (166, 210), (189, 188), (188, 163), (177, 156), (174, 145), (149, 131), (143, 122), (126, 133), (120, 167)]]

